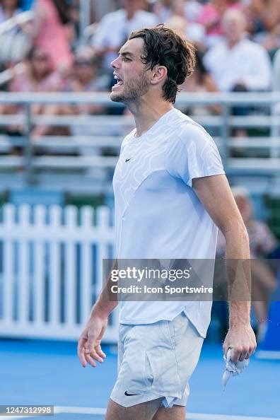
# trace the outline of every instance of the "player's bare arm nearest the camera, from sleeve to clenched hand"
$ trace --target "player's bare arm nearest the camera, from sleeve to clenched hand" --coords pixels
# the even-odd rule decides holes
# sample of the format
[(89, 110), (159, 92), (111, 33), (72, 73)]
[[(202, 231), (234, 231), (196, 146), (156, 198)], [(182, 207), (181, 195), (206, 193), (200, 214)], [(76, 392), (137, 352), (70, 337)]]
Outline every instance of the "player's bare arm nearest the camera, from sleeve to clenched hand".
[[(192, 188), (226, 238), (227, 264), (233, 261), (249, 263), (247, 230), (226, 176), (212, 175), (194, 178)], [(248, 267), (248, 264), (246, 265)], [(245, 267), (234, 275), (238, 276), (238, 284), (250, 291), (250, 268)], [(247, 293), (245, 301), (230, 298), (229, 313), (229, 329), (223, 343), (223, 351), (227, 354), (228, 349), (231, 348), (232, 360), (242, 361), (244, 358), (249, 358), (257, 346), (255, 334), (250, 325), (250, 293)]]

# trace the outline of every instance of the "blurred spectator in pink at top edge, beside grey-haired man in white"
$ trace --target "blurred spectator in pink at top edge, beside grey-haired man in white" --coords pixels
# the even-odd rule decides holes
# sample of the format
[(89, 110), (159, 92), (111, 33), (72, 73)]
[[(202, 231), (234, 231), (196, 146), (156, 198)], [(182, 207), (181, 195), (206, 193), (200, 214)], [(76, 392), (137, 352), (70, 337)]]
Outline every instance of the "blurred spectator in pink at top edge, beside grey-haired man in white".
[(223, 40), (222, 18), (223, 14), (231, 8), (243, 8), (236, 0), (211, 0), (204, 4), (198, 22), (206, 30), (206, 46), (212, 47)]

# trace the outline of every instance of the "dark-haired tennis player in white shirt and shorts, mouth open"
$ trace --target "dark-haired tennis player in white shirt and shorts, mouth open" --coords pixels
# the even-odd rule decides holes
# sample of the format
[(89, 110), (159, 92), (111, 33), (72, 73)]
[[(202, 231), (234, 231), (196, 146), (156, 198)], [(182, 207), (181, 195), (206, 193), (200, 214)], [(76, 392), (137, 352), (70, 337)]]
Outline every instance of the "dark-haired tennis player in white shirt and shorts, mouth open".
[[(115, 268), (118, 259), (214, 259), (217, 227), (227, 258), (249, 259), (247, 232), (216, 145), (173, 106), (194, 64), (194, 47), (164, 25), (132, 33), (112, 62), (110, 98), (127, 105), (136, 124), (122, 143), (113, 180)], [(84, 367), (104, 361), (100, 340), (116, 306), (104, 291), (93, 305), (78, 340)], [(223, 351), (231, 348), (233, 361), (242, 361), (256, 347), (250, 302), (229, 307)], [(207, 301), (119, 302), (119, 368), (106, 420), (185, 419), (188, 381), (210, 312)]]

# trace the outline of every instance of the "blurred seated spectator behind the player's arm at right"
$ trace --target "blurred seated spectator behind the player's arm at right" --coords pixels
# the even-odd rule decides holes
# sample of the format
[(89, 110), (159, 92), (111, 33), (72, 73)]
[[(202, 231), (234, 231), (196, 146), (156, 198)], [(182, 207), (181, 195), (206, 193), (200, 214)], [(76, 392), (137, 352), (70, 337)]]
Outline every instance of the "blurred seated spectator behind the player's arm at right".
[[(254, 299), (252, 307), (257, 318), (257, 341), (260, 342), (267, 329), (269, 301), (276, 288), (275, 276), (264, 258), (276, 250), (277, 241), (266, 223), (255, 220), (247, 190), (242, 187), (233, 187), (232, 192), (243, 217), (250, 241), (252, 296)], [(219, 232), (217, 256), (225, 255), (225, 250), (226, 242)]]

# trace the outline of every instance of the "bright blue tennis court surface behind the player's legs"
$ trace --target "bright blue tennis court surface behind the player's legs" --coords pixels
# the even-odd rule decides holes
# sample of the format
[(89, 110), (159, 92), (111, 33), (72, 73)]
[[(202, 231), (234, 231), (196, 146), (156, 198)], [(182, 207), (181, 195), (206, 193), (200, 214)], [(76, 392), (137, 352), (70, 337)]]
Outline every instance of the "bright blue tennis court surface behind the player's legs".
[[(117, 373), (117, 349), (104, 350), (103, 366), (82, 368), (75, 342), (1, 339), (1, 404), (52, 404), (51, 418), (57, 420), (104, 419)], [(205, 343), (191, 380), (188, 420), (280, 419), (280, 361), (252, 357), (247, 371), (231, 378), (225, 392), (222, 373), (221, 345)]]

